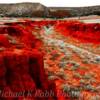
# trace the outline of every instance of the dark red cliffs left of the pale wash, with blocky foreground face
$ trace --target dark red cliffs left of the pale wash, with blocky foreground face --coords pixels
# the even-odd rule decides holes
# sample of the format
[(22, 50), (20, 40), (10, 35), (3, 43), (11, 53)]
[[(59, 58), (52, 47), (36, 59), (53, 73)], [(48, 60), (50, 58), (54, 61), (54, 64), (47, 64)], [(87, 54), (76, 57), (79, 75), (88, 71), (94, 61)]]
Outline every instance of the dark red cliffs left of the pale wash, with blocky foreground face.
[[(56, 100), (55, 84), (47, 80), (37, 48), (42, 42), (32, 34), (30, 23), (21, 24), (0, 27), (0, 99)], [(44, 95), (50, 92), (54, 94)]]

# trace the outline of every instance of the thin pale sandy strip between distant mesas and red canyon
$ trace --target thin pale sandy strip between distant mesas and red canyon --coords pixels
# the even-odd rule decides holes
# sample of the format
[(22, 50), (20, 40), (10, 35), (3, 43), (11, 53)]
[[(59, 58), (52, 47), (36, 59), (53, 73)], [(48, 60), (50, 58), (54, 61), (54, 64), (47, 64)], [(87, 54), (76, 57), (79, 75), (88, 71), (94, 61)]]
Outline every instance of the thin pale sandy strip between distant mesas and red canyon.
[(71, 18), (62, 18), (62, 19), (53, 19), (53, 18), (9, 18), (9, 17), (1, 17), (0, 24), (4, 22), (23, 22), (24, 20), (79, 20), (85, 23), (100, 23), (100, 16), (83, 16), (83, 17), (71, 17)]

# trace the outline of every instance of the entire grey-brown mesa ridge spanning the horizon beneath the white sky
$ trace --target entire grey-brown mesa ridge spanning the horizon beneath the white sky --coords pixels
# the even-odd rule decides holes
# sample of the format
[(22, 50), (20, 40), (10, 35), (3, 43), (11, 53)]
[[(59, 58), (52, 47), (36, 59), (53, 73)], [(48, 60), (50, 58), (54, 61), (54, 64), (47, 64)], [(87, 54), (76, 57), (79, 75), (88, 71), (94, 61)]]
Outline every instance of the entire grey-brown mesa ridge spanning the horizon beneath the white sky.
[(0, 17), (66, 18), (100, 15), (100, 6), (46, 7), (40, 3), (0, 4)]

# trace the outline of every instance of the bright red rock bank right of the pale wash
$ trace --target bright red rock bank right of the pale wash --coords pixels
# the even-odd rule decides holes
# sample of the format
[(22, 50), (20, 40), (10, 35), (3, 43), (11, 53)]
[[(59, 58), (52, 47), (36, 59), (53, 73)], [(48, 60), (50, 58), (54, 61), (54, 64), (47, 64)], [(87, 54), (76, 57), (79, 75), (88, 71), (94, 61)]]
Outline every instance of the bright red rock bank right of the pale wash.
[(100, 43), (100, 24), (62, 21), (55, 25), (55, 30), (64, 36), (73, 37), (81, 42)]

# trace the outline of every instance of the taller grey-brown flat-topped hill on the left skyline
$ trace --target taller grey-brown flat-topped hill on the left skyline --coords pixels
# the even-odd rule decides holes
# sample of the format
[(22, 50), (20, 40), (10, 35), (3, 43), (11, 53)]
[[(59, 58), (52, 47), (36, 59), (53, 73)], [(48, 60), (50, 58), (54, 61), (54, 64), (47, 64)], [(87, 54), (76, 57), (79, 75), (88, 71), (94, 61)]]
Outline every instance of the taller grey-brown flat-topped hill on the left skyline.
[(44, 17), (47, 8), (40, 3), (0, 4), (0, 15), (7, 17)]

